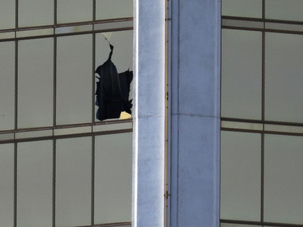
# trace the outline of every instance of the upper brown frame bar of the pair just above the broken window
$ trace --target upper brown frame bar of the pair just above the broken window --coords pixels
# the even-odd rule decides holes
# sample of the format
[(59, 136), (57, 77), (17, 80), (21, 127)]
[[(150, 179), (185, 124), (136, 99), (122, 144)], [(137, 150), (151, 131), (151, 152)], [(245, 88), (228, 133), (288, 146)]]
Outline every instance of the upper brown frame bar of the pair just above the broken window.
[(57, 27), (68, 27), (68, 26), (87, 25), (87, 24), (121, 22), (121, 21), (130, 21), (130, 20), (133, 20), (133, 17), (123, 17), (123, 18), (95, 20), (95, 21), (90, 20), (90, 21), (62, 23), (62, 24), (49, 24), (49, 25), (40, 25), (40, 26), (32, 26), (32, 27), (8, 28), (8, 29), (1, 29), (0, 33), (2, 33), (2, 32), (14, 32), (14, 31), (29, 31), (29, 30), (42, 29), (42, 28), (57, 28)]

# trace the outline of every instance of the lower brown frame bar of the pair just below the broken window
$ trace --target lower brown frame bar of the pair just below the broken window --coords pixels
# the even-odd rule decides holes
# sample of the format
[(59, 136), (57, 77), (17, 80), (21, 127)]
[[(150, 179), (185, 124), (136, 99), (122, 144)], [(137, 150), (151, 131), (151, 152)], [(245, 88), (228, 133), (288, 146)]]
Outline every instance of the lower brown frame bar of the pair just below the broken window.
[(95, 135), (110, 135), (110, 134), (119, 134), (125, 132), (133, 132), (132, 128), (129, 129), (118, 129), (118, 130), (110, 130), (103, 132), (86, 132), (86, 133), (77, 133), (77, 134), (68, 134), (68, 135), (52, 135), (45, 137), (32, 137), (25, 139), (10, 139), (10, 140), (2, 140), (0, 144), (3, 143), (14, 143), (14, 142), (29, 142), (29, 141), (40, 141), (40, 140), (51, 140), (51, 139), (66, 139), (66, 138), (76, 138), (76, 137), (85, 137), (85, 136), (95, 136)]

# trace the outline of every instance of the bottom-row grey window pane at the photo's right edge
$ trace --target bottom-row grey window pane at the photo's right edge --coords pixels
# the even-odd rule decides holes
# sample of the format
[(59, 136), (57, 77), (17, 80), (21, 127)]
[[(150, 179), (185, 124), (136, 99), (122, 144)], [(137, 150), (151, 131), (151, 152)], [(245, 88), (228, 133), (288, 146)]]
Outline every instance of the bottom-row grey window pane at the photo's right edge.
[(303, 139), (265, 135), (264, 221), (303, 224)]

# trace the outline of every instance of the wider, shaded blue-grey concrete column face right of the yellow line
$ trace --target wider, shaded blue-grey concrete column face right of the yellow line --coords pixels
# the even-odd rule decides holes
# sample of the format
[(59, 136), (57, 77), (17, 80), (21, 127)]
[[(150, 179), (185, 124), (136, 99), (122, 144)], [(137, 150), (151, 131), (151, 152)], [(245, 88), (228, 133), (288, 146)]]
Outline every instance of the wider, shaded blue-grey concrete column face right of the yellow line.
[(218, 0), (172, 0), (171, 227), (219, 227)]

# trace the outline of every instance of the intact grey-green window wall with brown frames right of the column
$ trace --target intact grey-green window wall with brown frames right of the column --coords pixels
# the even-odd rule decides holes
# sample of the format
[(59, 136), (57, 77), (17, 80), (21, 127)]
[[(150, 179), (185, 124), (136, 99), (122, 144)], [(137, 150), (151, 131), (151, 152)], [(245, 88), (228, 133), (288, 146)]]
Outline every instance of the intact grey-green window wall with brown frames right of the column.
[(303, 226), (302, 9), (222, 0), (221, 227)]

